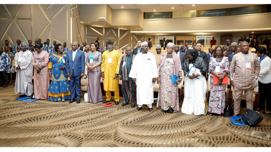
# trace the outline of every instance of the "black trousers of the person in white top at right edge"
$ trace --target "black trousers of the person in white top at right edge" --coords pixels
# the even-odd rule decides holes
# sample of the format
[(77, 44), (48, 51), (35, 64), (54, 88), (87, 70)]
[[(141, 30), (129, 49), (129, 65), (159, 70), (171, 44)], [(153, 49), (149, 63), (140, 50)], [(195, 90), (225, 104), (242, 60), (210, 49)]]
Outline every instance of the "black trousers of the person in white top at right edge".
[(259, 83), (259, 93), (260, 93), (260, 100), (259, 100), (259, 107), (260, 109), (265, 110), (265, 103), (266, 103), (266, 110), (271, 111), (271, 82), (268, 84), (263, 84), (260, 81)]

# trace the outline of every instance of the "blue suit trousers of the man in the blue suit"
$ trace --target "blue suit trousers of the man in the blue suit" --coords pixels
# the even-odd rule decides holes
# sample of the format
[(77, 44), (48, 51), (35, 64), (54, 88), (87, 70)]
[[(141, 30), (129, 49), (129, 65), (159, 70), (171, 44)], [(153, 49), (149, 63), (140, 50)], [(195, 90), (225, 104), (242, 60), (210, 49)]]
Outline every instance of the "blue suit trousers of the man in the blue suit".
[(71, 92), (71, 99), (81, 99), (81, 79), (79, 78), (80, 75), (70, 76), (70, 92)]

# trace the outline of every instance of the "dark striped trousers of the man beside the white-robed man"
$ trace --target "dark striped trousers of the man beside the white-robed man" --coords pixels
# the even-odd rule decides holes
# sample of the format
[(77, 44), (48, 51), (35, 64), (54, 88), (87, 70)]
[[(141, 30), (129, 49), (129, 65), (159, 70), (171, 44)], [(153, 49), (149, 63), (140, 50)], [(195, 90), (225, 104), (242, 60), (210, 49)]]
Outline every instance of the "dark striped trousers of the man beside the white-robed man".
[(134, 103), (136, 100), (136, 84), (132, 80), (122, 81), (121, 90), (125, 98), (125, 102)]

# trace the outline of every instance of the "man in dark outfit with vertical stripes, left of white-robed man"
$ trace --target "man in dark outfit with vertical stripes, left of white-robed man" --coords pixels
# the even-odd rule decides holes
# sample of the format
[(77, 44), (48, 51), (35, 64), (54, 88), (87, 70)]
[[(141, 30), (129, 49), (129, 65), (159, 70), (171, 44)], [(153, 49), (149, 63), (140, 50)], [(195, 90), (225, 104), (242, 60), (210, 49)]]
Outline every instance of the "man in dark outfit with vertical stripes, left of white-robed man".
[(136, 106), (136, 83), (128, 76), (136, 55), (132, 54), (131, 47), (126, 47), (125, 50), (126, 55), (121, 58), (119, 71), (119, 78), (122, 78), (121, 90), (124, 96), (124, 103), (121, 106), (128, 105), (128, 102), (132, 102), (131, 107), (133, 108)]

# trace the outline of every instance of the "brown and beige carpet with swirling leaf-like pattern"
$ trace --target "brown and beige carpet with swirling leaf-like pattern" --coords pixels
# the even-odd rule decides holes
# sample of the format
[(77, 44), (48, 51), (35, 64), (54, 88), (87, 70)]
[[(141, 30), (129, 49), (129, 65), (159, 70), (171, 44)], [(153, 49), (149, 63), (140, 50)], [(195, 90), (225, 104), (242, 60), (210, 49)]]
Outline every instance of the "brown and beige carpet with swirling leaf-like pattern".
[[(217, 115), (168, 114), (153, 104), (135, 111), (131, 104), (16, 101), (14, 85), (0, 88), (0, 147), (270, 147), (271, 115), (257, 127), (234, 126)], [(83, 93), (82, 93), (83, 97)], [(112, 99), (113, 101), (113, 99)], [(181, 105), (180, 105), (181, 107)], [(245, 108), (241, 108), (243, 113)]]

